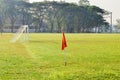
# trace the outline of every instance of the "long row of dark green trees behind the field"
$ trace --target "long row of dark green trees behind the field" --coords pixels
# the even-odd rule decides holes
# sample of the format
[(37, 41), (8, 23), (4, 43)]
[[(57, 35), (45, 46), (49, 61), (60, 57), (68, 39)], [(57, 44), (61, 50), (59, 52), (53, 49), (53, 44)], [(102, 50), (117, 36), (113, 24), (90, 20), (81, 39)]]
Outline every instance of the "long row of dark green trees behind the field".
[(108, 32), (105, 10), (82, 0), (79, 4), (26, 0), (0, 0), (0, 31), (15, 32), (21, 25), (29, 25), (32, 32)]

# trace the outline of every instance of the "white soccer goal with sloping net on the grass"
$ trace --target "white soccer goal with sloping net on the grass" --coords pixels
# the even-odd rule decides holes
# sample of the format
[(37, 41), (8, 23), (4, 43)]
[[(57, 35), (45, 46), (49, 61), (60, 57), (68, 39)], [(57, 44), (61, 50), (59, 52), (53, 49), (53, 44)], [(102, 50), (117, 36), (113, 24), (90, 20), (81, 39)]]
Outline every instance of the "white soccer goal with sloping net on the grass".
[(22, 25), (17, 32), (14, 34), (13, 38), (10, 40), (11, 43), (16, 42), (22, 35), (24, 36), (24, 41), (28, 41), (28, 25)]

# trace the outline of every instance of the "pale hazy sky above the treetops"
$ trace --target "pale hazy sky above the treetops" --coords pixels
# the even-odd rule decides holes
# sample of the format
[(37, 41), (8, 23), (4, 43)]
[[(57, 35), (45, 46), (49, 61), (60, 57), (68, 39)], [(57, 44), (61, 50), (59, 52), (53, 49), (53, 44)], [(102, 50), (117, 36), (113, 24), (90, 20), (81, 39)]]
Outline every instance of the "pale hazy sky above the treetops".
[[(40, 2), (44, 0), (29, 0), (30, 2)], [(53, 1), (53, 0), (48, 0)], [(60, 0), (54, 0), (60, 1)], [(66, 2), (78, 3), (79, 0), (65, 0)], [(113, 24), (116, 24), (116, 19), (120, 19), (120, 0), (88, 0), (91, 5), (98, 6), (102, 9), (105, 9), (109, 12), (112, 12), (112, 21)], [(110, 17), (107, 18), (107, 21), (110, 23)]]

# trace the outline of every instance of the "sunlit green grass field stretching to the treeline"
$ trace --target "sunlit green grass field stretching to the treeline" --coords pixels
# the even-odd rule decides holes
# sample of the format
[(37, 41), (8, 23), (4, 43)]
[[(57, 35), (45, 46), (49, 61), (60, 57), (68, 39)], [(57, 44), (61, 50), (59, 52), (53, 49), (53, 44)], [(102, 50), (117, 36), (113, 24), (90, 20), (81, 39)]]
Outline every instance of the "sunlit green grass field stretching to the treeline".
[(65, 35), (65, 54), (62, 34), (0, 35), (0, 80), (120, 80), (120, 34)]

